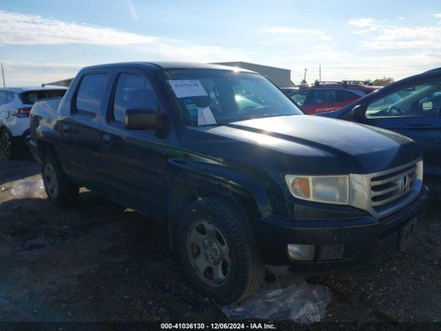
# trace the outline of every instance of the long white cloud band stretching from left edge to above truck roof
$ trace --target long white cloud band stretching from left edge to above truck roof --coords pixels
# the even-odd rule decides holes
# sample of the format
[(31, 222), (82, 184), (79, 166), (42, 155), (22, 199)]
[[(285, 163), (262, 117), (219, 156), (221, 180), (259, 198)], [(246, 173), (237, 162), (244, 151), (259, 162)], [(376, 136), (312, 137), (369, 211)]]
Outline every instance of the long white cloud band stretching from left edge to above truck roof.
[[(136, 12), (132, 12), (132, 14), (136, 14)], [(0, 10), (0, 46), (65, 44), (133, 46), (134, 50), (152, 54), (160, 59), (176, 61), (209, 62), (247, 58), (238, 48), (198, 45), (176, 39), (125, 32), (114, 28)], [(237, 58), (235, 58), (236, 56)]]

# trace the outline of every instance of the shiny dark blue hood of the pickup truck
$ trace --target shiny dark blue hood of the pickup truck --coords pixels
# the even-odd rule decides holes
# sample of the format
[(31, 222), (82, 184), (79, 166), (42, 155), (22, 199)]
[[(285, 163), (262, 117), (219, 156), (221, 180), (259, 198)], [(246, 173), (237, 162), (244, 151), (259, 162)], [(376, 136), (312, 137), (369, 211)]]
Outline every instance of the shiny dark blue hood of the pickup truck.
[(195, 144), (204, 154), (298, 174), (370, 173), (421, 157), (417, 144), (396, 132), (307, 115), (192, 130), (204, 134)]

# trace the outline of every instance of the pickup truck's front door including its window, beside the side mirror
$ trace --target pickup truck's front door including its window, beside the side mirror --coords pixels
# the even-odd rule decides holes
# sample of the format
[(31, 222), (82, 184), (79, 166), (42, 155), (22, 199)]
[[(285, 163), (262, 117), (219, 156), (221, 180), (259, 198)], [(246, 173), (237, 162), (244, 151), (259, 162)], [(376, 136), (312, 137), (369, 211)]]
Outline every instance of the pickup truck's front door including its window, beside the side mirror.
[(151, 108), (161, 112), (154, 81), (144, 70), (120, 70), (103, 119), (103, 174), (110, 198), (147, 216), (165, 218), (167, 137), (154, 130), (127, 130), (124, 112)]

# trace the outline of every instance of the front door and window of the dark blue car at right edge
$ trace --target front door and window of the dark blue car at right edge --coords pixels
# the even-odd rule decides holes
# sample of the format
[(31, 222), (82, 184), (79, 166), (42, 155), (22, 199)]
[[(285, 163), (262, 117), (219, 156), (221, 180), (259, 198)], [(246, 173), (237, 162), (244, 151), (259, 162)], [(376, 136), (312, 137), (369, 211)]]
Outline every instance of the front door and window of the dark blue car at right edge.
[(396, 131), (418, 143), (424, 173), (441, 175), (441, 77), (419, 79), (368, 101), (367, 124)]

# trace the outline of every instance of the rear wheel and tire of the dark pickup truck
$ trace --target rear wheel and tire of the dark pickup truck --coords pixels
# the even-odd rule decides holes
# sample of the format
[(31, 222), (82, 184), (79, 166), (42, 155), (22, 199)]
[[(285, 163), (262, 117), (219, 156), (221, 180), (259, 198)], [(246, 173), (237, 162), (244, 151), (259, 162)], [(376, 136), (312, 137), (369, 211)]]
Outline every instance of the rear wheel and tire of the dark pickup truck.
[(59, 207), (78, 197), (79, 187), (63, 172), (53, 152), (47, 152), (41, 164), (41, 174), (48, 199)]

